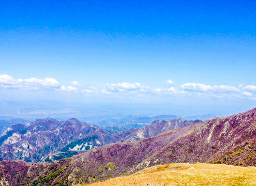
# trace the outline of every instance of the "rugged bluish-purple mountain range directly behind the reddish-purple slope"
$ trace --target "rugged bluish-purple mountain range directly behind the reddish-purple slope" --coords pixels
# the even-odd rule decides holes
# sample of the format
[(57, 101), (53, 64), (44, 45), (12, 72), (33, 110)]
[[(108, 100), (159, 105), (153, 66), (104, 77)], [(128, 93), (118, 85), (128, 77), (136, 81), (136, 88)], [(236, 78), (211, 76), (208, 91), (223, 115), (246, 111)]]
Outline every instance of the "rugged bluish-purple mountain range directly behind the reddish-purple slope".
[(136, 141), (161, 132), (192, 125), (199, 121), (156, 121), (141, 129), (111, 131), (88, 125), (75, 118), (57, 121), (37, 119), (26, 125), (16, 124), (0, 136), (0, 160), (26, 162), (53, 161), (71, 157), (94, 147), (121, 141)]

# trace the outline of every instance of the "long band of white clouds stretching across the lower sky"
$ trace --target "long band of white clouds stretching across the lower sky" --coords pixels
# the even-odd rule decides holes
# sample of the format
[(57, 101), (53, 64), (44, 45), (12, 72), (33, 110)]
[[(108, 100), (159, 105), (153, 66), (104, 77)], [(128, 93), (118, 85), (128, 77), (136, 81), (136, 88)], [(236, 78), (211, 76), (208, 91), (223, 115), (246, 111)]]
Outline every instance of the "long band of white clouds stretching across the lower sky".
[(202, 83), (184, 83), (180, 87), (174, 86), (172, 80), (167, 80), (167, 87), (149, 87), (141, 85), (140, 83), (107, 83), (102, 87), (84, 87), (77, 81), (72, 81), (70, 85), (61, 85), (57, 80), (46, 77), (44, 79), (37, 79), (31, 77), (29, 79), (14, 79), (12, 76), (7, 74), (0, 75), (0, 87), (2, 89), (21, 89), (27, 91), (48, 91), (52, 92), (72, 92), (74, 94), (86, 94), (103, 96), (122, 96), (129, 95), (132, 97), (143, 97), (153, 96), (160, 98), (223, 98), (223, 99), (251, 99), (256, 100), (256, 86), (255, 85), (206, 85)]

